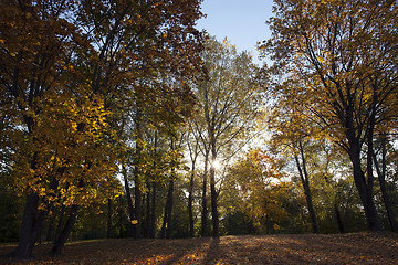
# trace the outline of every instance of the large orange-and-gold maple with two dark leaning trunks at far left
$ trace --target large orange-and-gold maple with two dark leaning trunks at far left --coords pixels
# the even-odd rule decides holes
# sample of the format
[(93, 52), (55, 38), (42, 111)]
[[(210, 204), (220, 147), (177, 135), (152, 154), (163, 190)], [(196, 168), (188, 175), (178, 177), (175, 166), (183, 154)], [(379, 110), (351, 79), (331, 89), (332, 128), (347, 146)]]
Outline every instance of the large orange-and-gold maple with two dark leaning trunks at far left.
[[(168, 103), (189, 94), (161, 77), (181, 83), (199, 65), (199, 3), (1, 2), (1, 159), (27, 194), (13, 255), (31, 255), (60, 195), (71, 205), (53, 248), (61, 253), (78, 206), (96, 198), (98, 187), (111, 188), (126, 100), (143, 104), (151, 84)], [(187, 113), (175, 109), (179, 119)]]

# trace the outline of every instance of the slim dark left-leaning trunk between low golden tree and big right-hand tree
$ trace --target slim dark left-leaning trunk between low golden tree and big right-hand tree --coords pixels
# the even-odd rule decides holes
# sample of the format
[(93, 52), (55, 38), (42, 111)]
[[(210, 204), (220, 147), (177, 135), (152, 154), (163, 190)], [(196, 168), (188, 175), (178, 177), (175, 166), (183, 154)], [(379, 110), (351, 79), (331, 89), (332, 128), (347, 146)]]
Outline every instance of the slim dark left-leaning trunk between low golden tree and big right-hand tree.
[(298, 169), (298, 173), (300, 173), (300, 179), (302, 181), (302, 186), (304, 189), (304, 194), (305, 194), (305, 201), (307, 203), (307, 208), (308, 208), (308, 214), (310, 214), (310, 219), (311, 219), (311, 223), (312, 223), (312, 231), (313, 233), (318, 233), (318, 225), (316, 222), (316, 214), (315, 214), (315, 209), (314, 209), (314, 204), (312, 201), (312, 194), (311, 194), (311, 188), (310, 188), (310, 180), (308, 180), (308, 172), (306, 170), (306, 160), (305, 160), (305, 156), (304, 156), (304, 148), (302, 142), (298, 142), (298, 148), (300, 148), (300, 155), (301, 155), (301, 159), (302, 159), (302, 163), (300, 162), (298, 156), (294, 156), (295, 161), (296, 161), (296, 166)]

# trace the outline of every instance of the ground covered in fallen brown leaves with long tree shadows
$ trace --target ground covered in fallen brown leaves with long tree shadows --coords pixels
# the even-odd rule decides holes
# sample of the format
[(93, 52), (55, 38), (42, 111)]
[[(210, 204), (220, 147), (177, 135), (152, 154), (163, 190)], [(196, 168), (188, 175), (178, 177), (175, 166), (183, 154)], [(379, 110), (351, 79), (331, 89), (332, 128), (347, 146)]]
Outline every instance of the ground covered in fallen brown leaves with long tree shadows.
[[(0, 256), (12, 247), (0, 245)], [(35, 246), (32, 259), (13, 264), (398, 264), (391, 233), (86, 241), (69, 243), (57, 257), (50, 247)]]

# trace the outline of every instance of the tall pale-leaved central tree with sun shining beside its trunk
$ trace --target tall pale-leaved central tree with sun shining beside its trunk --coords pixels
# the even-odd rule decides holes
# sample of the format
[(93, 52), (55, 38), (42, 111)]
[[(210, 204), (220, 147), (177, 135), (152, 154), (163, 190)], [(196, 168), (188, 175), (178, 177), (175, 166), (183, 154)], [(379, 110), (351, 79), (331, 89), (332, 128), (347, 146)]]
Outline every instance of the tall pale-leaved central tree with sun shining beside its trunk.
[[(251, 56), (238, 53), (224, 40), (210, 38), (202, 53), (206, 76), (196, 86), (200, 124), (205, 126), (201, 137), (205, 168), (210, 162), (210, 193), (213, 236), (219, 236), (218, 191), (214, 161), (220, 155), (231, 157), (250, 138), (255, 118), (261, 112), (261, 86), (256, 82), (256, 67)], [(209, 157), (208, 157), (209, 156)], [(205, 178), (206, 178), (205, 170)], [(205, 187), (203, 181), (203, 189)]]

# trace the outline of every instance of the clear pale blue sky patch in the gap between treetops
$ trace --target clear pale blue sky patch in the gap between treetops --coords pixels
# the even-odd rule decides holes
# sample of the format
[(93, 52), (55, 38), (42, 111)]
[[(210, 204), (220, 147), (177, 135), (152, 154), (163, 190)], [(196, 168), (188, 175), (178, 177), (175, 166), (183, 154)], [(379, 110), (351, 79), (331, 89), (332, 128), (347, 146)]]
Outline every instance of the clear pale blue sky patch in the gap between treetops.
[(201, 11), (207, 18), (198, 21), (198, 29), (219, 41), (227, 36), (239, 51), (253, 51), (260, 64), (255, 45), (270, 38), (265, 21), (272, 15), (272, 0), (205, 0)]

